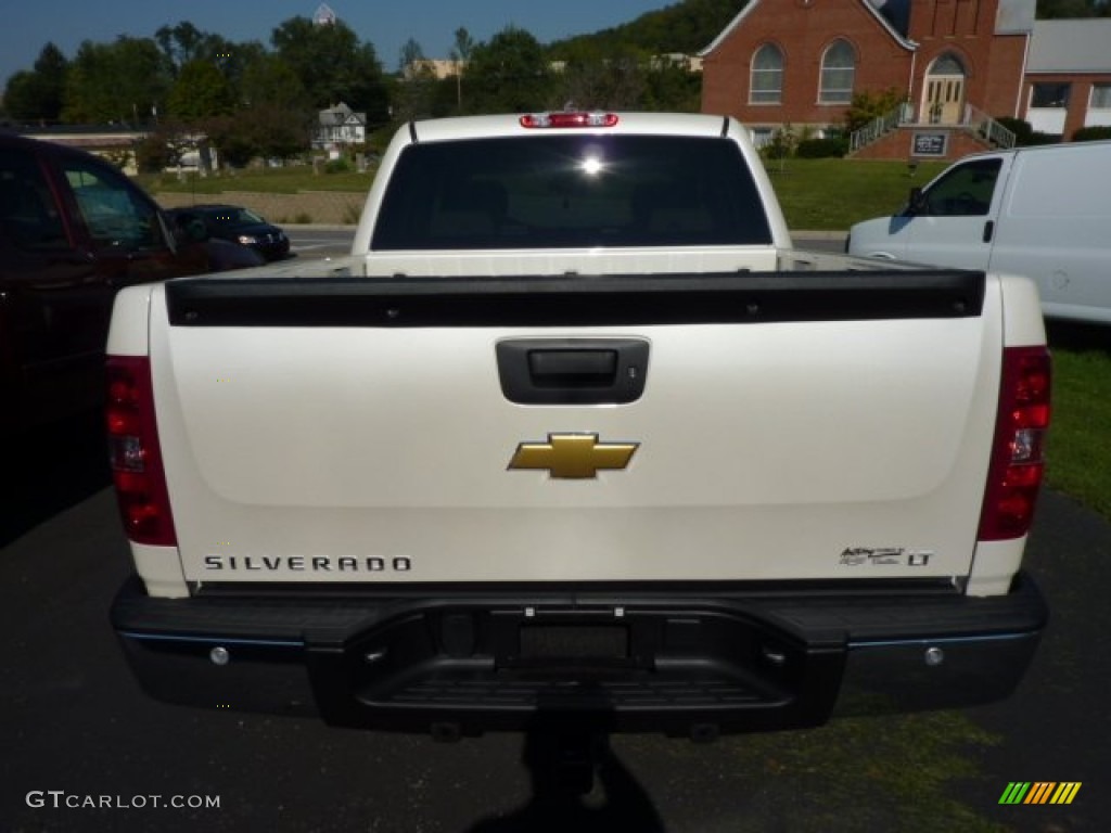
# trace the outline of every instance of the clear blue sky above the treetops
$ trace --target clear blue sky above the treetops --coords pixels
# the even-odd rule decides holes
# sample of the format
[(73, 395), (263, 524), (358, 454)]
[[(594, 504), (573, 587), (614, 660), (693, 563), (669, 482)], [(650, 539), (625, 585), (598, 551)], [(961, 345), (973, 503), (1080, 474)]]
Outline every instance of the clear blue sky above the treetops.
[[(372, 43), (387, 71), (398, 69), (410, 38), (428, 58), (448, 58), (459, 27), (476, 42), (513, 24), (541, 43), (624, 23), (679, 0), (331, 0), (328, 6), (363, 43)], [(0, 88), (30, 70), (48, 42), (72, 59), (84, 40), (111, 42), (120, 34), (153, 37), (162, 26), (188, 20), (233, 42), (257, 40), (293, 17), (311, 18), (320, 0), (8, 0), (0, 23)]]

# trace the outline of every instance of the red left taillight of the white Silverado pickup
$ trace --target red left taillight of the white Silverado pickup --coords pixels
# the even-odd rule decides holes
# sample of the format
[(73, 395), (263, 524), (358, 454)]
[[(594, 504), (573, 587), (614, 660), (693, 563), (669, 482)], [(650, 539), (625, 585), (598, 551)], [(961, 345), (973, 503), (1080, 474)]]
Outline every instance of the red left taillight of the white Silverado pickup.
[(176, 546), (146, 357), (109, 357), (106, 416), (112, 480), (128, 538)]

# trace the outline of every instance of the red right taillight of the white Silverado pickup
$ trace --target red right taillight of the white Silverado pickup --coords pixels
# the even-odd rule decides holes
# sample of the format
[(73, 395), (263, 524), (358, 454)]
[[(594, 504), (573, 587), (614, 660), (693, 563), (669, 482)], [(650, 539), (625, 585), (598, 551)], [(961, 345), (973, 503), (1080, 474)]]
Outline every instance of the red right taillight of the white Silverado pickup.
[(1021, 538), (1030, 531), (1045, 469), (1049, 423), (1049, 351), (1043, 347), (1008, 348), (980, 518), (981, 541)]

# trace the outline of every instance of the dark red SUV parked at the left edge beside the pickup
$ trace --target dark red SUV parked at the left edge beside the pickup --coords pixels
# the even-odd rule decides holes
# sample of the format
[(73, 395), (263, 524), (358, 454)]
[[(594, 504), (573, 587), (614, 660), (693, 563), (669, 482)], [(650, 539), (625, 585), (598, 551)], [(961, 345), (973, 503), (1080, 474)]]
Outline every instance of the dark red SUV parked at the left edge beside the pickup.
[(0, 428), (94, 407), (121, 287), (262, 262), (171, 231), (106, 161), (0, 133)]

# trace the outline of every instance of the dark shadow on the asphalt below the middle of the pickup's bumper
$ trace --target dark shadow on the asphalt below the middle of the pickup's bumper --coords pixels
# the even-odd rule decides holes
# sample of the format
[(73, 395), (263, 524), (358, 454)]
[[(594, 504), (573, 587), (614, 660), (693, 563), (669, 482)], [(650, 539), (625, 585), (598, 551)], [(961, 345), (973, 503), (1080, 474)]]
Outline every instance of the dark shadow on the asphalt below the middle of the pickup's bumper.
[(470, 833), (663, 833), (644, 787), (610, 750), (604, 735), (569, 737), (553, 730), (526, 734), (522, 760), (532, 799), (508, 815), (479, 821)]

